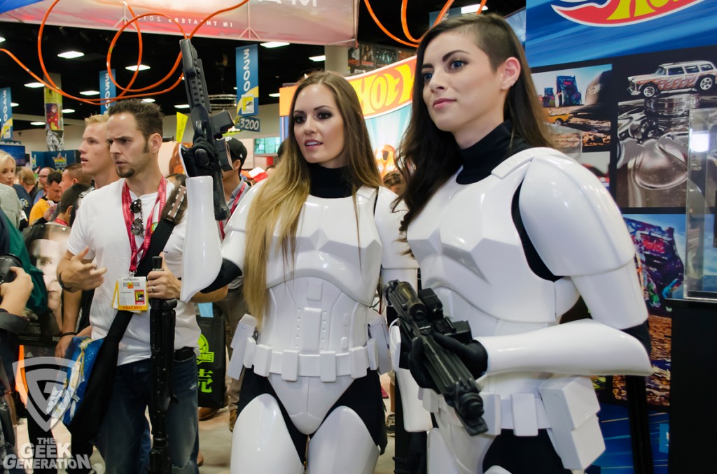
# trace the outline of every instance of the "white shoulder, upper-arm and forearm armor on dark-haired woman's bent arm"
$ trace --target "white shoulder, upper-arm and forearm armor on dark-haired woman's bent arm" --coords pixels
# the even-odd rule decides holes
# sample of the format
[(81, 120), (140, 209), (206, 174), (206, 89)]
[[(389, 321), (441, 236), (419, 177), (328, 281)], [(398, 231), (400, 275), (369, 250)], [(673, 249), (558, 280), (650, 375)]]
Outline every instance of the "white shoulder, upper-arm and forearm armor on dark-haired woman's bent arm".
[(619, 330), (642, 324), (647, 309), (635, 247), (609, 193), (579, 163), (543, 153), (528, 168), (519, 206), (541, 259), (572, 281), (593, 320), (478, 338), (488, 350), (488, 372), (649, 375), (645, 348)]

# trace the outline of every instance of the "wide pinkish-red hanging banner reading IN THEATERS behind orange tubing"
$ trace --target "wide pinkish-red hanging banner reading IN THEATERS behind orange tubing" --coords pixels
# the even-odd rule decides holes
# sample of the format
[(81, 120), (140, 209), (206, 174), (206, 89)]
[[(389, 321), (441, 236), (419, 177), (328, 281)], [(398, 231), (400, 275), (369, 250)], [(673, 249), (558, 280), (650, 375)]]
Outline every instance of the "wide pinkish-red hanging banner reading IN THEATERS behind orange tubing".
[[(12, 9), (0, 14), (0, 19), (39, 24), (50, 3), (42, 1)], [(189, 34), (201, 24), (196, 33), (200, 37), (303, 44), (353, 44), (356, 39), (359, 21), (356, 0), (250, 0), (204, 21), (215, 11), (226, 9), (227, 3), (226, 0), (60, 1), (54, 5), (47, 24), (116, 31), (134, 15), (146, 14), (137, 21), (145, 33), (181, 34), (181, 26)]]

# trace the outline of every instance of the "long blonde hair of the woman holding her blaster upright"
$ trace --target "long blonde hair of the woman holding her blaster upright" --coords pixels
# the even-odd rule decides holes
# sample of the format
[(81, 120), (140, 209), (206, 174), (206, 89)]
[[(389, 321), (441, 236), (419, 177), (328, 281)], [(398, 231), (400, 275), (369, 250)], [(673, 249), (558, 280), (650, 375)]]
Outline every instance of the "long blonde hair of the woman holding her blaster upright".
[(248, 216), (247, 244), (244, 250), (244, 299), (259, 324), (267, 306), (267, 261), (272, 243), (275, 239), (280, 243), (284, 264), (290, 266), (295, 256), (301, 210), (310, 191), (308, 163), (301, 155), (293, 130), (296, 97), (305, 87), (313, 84), (321, 84), (331, 90), (343, 118), (343, 153), (346, 156), (344, 177), (351, 186), (354, 208), (356, 191), (361, 186), (379, 188), (381, 185), (381, 176), (376, 168), (369, 131), (356, 91), (346, 79), (332, 72), (314, 72), (305, 77), (299, 83), (291, 104), (289, 136), (285, 140), (282, 158), (272, 178), (265, 180), (257, 190)]

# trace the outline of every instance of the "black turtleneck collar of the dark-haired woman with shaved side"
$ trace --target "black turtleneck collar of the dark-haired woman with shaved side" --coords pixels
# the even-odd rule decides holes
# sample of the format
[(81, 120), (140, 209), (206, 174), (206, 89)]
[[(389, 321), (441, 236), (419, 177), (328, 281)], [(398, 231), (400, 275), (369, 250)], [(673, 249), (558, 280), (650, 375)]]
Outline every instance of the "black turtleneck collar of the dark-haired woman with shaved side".
[[(531, 146), (518, 135), (511, 137), (513, 122), (505, 122), (495, 127), (475, 145), (459, 150), (463, 169), (456, 178), (458, 184), (478, 183), (488, 178), (493, 169), (516, 153), (527, 150)], [(512, 138), (512, 143), (511, 143)]]

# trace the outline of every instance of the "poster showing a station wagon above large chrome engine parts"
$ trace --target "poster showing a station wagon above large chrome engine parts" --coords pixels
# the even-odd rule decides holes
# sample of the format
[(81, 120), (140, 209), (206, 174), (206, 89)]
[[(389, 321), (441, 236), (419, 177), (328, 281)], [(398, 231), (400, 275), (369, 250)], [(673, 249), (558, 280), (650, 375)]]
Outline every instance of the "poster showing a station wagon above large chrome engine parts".
[[(716, 64), (713, 47), (614, 60), (615, 198), (621, 208), (684, 212), (690, 110), (717, 107)], [(715, 179), (715, 163), (708, 165), (713, 169), (707, 174)]]

